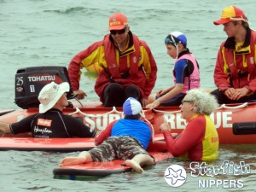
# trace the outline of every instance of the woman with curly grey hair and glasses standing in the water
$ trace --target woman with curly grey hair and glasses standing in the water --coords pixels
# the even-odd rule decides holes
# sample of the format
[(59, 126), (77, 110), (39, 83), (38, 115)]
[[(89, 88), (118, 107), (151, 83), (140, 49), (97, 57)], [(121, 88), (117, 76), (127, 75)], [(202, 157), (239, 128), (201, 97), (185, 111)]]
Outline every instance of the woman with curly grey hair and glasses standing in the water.
[(189, 90), (180, 105), (182, 118), (188, 125), (177, 137), (172, 137), (170, 125), (163, 123), (166, 147), (173, 156), (186, 156), (189, 160), (215, 160), (218, 158), (218, 132), (210, 118), (218, 107), (214, 96), (204, 90)]

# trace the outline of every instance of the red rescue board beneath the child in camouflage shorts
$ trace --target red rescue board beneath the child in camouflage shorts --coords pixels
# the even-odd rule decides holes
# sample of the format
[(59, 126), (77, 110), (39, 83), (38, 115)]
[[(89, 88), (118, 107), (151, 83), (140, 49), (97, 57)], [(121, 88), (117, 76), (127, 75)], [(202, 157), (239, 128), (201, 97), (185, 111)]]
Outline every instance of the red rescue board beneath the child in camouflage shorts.
[[(170, 152), (152, 151), (155, 162), (172, 158)], [(62, 166), (53, 170), (54, 178), (76, 180), (80, 177), (106, 177), (111, 174), (131, 172), (129, 166), (125, 166), (125, 160), (112, 160), (108, 162), (90, 162), (74, 166)]]

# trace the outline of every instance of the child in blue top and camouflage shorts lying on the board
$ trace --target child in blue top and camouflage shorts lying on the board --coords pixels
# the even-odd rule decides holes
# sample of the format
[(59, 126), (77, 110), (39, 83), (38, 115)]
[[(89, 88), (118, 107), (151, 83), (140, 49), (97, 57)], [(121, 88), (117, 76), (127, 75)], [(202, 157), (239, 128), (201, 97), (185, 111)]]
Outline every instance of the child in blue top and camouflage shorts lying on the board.
[(153, 165), (154, 157), (146, 151), (152, 132), (150, 126), (140, 119), (141, 103), (130, 97), (124, 102), (123, 110), (124, 119), (113, 121), (96, 137), (96, 148), (81, 152), (78, 157), (66, 157), (60, 166), (125, 160), (126, 166), (143, 172), (142, 166)]

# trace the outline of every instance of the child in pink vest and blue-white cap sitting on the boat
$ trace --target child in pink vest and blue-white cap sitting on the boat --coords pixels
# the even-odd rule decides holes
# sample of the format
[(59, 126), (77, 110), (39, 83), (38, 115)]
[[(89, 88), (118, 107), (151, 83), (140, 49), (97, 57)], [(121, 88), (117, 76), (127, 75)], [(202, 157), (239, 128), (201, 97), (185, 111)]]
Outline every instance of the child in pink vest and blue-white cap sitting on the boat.
[(178, 106), (187, 90), (200, 87), (199, 65), (187, 47), (186, 36), (182, 32), (172, 32), (166, 37), (165, 44), (167, 54), (176, 60), (172, 72), (174, 85), (150, 95), (147, 108)]

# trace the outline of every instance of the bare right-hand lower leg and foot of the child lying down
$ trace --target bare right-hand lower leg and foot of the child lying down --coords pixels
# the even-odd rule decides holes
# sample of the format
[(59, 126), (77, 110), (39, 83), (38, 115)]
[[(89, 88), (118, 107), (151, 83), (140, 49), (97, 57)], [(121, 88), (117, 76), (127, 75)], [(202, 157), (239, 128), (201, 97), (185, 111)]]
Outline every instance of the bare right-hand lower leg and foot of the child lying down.
[(143, 172), (142, 166), (154, 165), (154, 158), (148, 154), (136, 154), (131, 160), (125, 160), (125, 165), (130, 166), (135, 172)]

